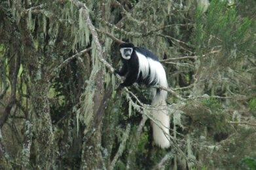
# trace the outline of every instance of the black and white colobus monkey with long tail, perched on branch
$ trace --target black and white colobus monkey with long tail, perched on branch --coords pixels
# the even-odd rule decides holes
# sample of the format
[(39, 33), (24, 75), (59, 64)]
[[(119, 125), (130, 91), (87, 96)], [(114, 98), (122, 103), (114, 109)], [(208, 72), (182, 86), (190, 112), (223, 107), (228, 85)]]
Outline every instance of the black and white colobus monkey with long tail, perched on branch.
[[(125, 76), (124, 82), (119, 87), (131, 86), (134, 82), (145, 84), (147, 86), (162, 86), (168, 88), (166, 72), (159, 62), (158, 58), (145, 48), (139, 48), (132, 43), (120, 44), (120, 53), (122, 55), (122, 69), (117, 71), (120, 76)], [(161, 148), (170, 146), (170, 116), (166, 110), (167, 92), (156, 88), (152, 89), (152, 105), (158, 107), (152, 110), (152, 116), (158, 125), (151, 121), (153, 126), (153, 138), (155, 143)], [(163, 130), (164, 131), (163, 131)]]

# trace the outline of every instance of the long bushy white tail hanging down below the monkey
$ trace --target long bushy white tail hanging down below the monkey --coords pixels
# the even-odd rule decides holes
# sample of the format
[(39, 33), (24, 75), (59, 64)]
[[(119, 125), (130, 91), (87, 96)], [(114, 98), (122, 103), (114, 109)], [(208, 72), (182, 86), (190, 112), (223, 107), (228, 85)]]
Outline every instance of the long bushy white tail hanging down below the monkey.
[(153, 90), (152, 105), (157, 109), (152, 110), (152, 116), (156, 124), (151, 120), (151, 125), (153, 127), (154, 141), (161, 148), (170, 146), (170, 116), (166, 108), (166, 97), (166, 91), (160, 90), (160, 92), (156, 92), (156, 90)]

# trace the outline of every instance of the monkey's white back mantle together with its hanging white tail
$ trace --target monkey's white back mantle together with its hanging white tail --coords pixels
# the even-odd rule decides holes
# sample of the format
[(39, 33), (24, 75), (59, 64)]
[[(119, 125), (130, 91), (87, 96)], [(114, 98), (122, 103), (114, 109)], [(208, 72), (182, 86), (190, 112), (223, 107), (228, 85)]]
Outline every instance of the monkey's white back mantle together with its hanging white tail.
[[(168, 88), (166, 72), (162, 64), (139, 52), (136, 52), (136, 54), (139, 61), (139, 74), (137, 76), (141, 74), (142, 78), (149, 78), (150, 84)], [(156, 92), (156, 89), (153, 89), (152, 105), (157, 109), (151, 112), (156, 122), (151, 120), (151, 124), (153, 126), (154, 141), (161, 148), (168, 148), (170, 146), (170, 116), (166, 109), (166, 97), (167, 92), (165, 90), (158, 90), (158, 92)]]

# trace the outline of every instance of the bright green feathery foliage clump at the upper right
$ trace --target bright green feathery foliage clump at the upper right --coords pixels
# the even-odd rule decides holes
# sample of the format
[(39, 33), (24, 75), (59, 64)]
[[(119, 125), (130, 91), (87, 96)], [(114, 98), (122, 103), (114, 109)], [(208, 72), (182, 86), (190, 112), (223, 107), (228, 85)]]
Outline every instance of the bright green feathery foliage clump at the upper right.
[[(227, 1), (211, 1), (206, 13), (201, 9), (196, 11), (196, 26), (194, 44), (197, 51), (204, 52), (201, 48), (209, 50), (220, 45), (228, 53), (237, 50), (245, 50), (249, 41), (247, 33), (251, 26), (251, 20), (238, 17), (236, 9), (229, 7)], [(236, 58), (237, 54), (232, 57)], [(227, 57), (227, 54), (226, 54)]]

